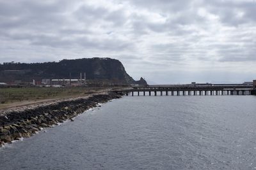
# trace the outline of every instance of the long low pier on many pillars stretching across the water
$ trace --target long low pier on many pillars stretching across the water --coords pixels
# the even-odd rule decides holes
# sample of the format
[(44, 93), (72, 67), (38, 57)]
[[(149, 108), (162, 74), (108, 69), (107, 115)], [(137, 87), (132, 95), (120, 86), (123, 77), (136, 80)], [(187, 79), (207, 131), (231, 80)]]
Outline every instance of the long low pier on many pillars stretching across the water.
[(244, 84), (184, 84), (132, 86), (131, 89), (115, 90), (126, 96), (224, 96), (252, 95), (253, 85)]

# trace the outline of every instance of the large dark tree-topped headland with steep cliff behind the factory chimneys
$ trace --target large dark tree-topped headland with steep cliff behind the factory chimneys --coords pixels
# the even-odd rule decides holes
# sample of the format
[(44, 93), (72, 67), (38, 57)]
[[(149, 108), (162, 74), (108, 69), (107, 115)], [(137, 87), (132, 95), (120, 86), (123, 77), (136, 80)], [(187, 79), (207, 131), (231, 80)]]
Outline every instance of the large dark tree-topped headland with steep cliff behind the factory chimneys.
[(92, 58), (61, 60), (44, 63), (0, 64), (0, 82), (10, 83), (15, 80), (41, 81), (48, 79), (80, 78), (86, 73), (87, 80), (111, 80), (131, 84), (135, 81), (126, 73), (123, 64), (116, 59)]

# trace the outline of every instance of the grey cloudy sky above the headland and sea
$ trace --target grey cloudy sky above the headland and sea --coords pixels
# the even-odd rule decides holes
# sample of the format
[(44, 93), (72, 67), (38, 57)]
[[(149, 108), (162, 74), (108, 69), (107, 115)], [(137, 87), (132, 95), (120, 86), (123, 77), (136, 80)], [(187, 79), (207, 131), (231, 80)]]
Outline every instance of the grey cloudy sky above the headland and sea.
[(256, 79), (255, 0), (0, 0), (0, 63), (110, 57), (148, 83)]

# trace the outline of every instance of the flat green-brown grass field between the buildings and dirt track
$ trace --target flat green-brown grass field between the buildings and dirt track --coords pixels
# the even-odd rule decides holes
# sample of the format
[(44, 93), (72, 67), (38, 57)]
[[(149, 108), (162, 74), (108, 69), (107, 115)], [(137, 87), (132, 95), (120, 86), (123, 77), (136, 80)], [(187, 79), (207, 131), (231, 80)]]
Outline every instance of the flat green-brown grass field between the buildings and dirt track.
[(40, 101), (42, 99), (55, 99), (61, 97), (85, 96), (103, 87), (22, 87), (22, 88), (0, 88), (1, 105), (17, 103), (22, 101)]

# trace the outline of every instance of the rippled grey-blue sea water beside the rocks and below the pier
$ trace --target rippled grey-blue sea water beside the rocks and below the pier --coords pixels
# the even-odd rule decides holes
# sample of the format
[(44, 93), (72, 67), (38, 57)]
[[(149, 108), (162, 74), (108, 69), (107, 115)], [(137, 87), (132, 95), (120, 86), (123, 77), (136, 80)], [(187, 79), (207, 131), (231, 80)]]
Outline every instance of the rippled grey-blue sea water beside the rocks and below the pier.
[(0, 169), (256, 169), (255, 103), (124, 97), (0, 148)]

